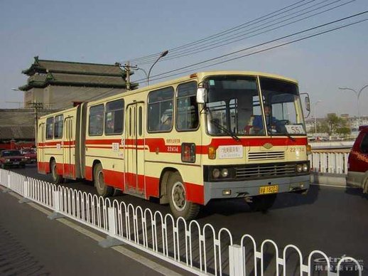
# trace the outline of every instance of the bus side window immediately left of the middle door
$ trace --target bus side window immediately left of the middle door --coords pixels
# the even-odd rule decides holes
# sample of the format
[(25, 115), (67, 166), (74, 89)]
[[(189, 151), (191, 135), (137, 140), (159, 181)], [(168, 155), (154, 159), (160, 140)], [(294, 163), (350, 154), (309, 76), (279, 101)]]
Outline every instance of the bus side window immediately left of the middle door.
[(124, 122), (124, 100), (107, 102), (105, 111), (105, 134), (123, 133)]

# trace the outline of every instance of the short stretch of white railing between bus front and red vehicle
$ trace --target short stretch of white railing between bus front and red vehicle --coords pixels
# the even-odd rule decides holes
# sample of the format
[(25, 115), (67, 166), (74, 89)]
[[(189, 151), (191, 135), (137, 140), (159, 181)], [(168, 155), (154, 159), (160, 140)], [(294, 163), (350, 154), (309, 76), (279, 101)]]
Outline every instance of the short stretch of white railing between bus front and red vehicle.
[(348, 153), (313, 152), (309, 156), (310, 168), (318, 173), (347, 174)]

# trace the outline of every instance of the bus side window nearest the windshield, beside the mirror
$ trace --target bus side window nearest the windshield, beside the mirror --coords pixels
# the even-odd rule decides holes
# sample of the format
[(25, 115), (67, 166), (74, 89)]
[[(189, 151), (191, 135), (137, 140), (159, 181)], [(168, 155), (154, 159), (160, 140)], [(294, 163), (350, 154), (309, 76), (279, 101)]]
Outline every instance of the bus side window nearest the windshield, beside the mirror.
[(176, 102), (176, 128), (178, 130), (197, 129), (198, 106), (196, 103), (197, 83), (183, 83), (178, 86), (178, 100)]

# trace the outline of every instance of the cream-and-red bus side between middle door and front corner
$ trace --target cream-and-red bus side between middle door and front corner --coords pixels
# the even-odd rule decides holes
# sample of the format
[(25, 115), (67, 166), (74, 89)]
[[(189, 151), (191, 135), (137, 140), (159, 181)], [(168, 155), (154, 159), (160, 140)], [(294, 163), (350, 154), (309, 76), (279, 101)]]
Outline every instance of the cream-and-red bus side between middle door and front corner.
[[(201, 129), (197, 123), (195, 123), (195, 126), (190, 126), (190, 122), (192, 122), (190, 120), (192, 110), (193, 115), (195, 113), (197, 115), (199, 114), (198, 110), (196, 110), (197, 104), (194, 100), (197, 85), (193, 81), (190, 83), (192, 85), (189, 88), (187, 87), (187, 89), (190, 89), (193, 93), (188, 95), (188, 97), (181, 97), (181, 99), (177, 97), (178, 90), (183, 85), (188, 85), (188, 83), (172, 86), (174, 95), (172, 105), (161, 105), (161, 111), (158, 112), (158, 115), (161, 117), (158, 120), (155, 117), (156, 113), (152, 112), (152, 109), (155, 107), (151, 108), (151, 104), (148, 101), (148, 108), (146, 108), (148, 114), (145, 120), (148, 124), (148, 127), (145, 127), (145, 131), (147, 132), (145, 137), (146, 155), (144, 156), (146, 198), (150, 196), (169, 196), (171, 193), (169, 190), (169, 176), (175, 171), (178, 171), (183, 180), (185, 195), (188, 201), (200, 204), (204, 202), (201, 166), (202, 152), (200, 150), (202, 148)], [(160, 105), (160, 103), (155, 105)], [(150, 133), (149, 129), (154, 128), (157, 122), (162, 122), (162, 116), (168, 111), (173, 114), (171, 129), (162, 131), (153, 130)], [(194, 156), (187, 159), (185, 152), (190, 152)], [(168, 203), (166, 200), (162, 202)]]

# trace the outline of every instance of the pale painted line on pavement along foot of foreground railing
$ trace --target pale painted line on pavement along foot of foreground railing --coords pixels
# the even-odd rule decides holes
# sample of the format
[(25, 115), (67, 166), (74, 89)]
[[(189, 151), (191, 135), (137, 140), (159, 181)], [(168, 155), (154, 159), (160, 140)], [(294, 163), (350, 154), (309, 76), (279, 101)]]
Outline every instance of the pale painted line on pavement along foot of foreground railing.
[[(3, 188), (1, 187), (1, 189)], [(10, 192), (9, 194), (11, 194), (11, 196), (14, 196), (15, 198), (18, 198), (18, 200), (23, 198), (22, 196), (19, 196), (17, 193), (14, 192)], [(37, 203), (31, 202), (27, 204), (37, 209), (38, 211), (45, 213), (45, 215), (50, 215), (51, 213), (53, 213), (52, 211), (48, 211), (48, 209), (39, 206)], [(97, 242), (104, 240), (102, 236), (97, 235), (96, 233), (93, 233), (90, 230), (87, 230), (86, 228), (82, 228), (80, 225), (77, 225), (72, 221), (69, 221), (67, 218), (58, 218), (57, 221), (60, 221), (60, 223), (63, 223), (68, 227), (77, 230), (79, 233), (82, 233), (83, 235), (87, 235), (87, 237), (92, 238), (92, 240), (96, 240)], [(141, 263), (142, 265), (145, 265), (148, 268), (151, 268), (151, 270), (155, 270), (156, 272), (161, 273), (162, 275), (173, 275), (173, 276), (181, 275), (173, 270), (170, 270), (168, 267), (164, 267), (163, 265), (160, 265), (157, 262), (153, 262), (153, 260), (149, 260), (148, 258), (139, 255), (138, 253), (135, 253), (134, 251), (124, 248), (124, 246), (122, 245), (114, 246), (112, 247), (112, 249), (128, 258), (131, 258), (132, 260), (135, 260), (136, 262)]]

